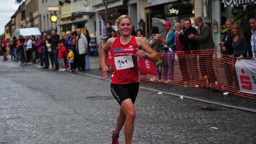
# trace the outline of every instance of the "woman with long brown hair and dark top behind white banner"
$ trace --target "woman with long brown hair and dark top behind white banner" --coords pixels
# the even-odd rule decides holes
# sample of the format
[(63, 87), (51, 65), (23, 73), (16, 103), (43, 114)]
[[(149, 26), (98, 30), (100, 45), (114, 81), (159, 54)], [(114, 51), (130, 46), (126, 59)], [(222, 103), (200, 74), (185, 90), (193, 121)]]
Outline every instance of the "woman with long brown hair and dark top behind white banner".
[(234, 49), (234, 57), (238, 60), (246, 57), (248, 45), (245, 37), (243, 36), (243, 32), (237, 24), (232, 25), (231, 32), (233, 37), (232, 47)]

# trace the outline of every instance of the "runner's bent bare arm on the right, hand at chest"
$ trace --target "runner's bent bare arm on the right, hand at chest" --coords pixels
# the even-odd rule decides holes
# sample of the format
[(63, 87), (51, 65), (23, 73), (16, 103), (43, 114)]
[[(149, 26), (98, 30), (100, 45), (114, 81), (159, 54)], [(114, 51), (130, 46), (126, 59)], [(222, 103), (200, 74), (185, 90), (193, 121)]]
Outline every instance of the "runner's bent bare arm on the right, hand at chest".
[(157, 54), (153, 51), (153, 49), (149, 46), (148, 42), (141, 38), (141, 37), (136, 37), (136, 42), (139, 45), (139, 47), (142, 48), (142, 50), (139, 50), (135, 56), (139, 56), (140, 58), (146, 58), (146, 55), (144, 52), (147, 52), (149, 55), (147, 59), (157, 62), (159, 60)]

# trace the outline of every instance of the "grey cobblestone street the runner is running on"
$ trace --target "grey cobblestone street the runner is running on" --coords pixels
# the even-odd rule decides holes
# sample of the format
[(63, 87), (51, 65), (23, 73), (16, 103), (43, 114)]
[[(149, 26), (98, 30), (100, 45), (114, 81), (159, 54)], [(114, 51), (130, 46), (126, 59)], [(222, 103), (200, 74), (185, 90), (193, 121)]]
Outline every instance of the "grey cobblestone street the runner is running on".
[[(145, 89), (135, 108), (133, 144), (256, 144), (255, 113)], [(118, 110), (109, 81), (0, 61), (0, 144), (110, 144)]]

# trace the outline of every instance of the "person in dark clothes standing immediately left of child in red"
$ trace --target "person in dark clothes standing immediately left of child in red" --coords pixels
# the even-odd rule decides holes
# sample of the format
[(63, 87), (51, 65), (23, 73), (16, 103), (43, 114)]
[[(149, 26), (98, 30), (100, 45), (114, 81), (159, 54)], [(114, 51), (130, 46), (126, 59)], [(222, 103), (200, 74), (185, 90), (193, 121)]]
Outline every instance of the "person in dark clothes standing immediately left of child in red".
[(52, 53), (54, 64), (55, 64), (55, 67), (53, 68), (53, 70), (59, 69), (58, 54), (56, 51), (58, 48), (59, 40), (60, 40), (60, 36), (56, 34), (55, 30), (53, 30), (52, 36), (51, 36), (51, 53)]

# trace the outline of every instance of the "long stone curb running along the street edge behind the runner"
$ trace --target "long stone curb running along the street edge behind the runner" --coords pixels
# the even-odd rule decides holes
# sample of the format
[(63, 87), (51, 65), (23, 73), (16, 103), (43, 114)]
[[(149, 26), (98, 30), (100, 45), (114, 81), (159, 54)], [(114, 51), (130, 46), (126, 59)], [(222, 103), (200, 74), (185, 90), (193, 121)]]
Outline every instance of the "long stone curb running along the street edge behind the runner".
[[(76, 73), (80, 74), (80, 75), (84, 75), (84, 76), (88, 76), (88, 77), (93, 77), (93, 78), (96, 78), (96, 79), (105, 80), (105, 81), (109, 81), (110, 82), (109, 79), (103, 79), (102, 77), (95, 76), (95, 75), (92, 75), (92, 74), (81, 73), (81, 72), (76, 72)], [(180, 95), (180, 94), (177, 94), (177, 93), (159, 91), (157, 89), (147, 88), (147, 87), (143, 87), (143, 86), (139, 86), (139, 87), (142, 88), (142, 89), (151, 90), (151, 91), (158, 91), (158, 92), (161, 92), (161, 93), (164, 93), (164, 94), (168, 94), (168, 95), (173, 95), (173, 96), (176, 96), (176, 97), (183, 96), (183, 98), (186, 98), (186, 99), (190, 99), (190, 100), (194, 100), (194, 101), (199, 101), (199, 102), (204, 102), (204, 103), (208, 103), (208, 104), (213, 104), (213, 105), (217, 105), (217, 106), (221, 106), (221, 107), (225, 107), (225, 108), (237, 109), (237, 110), (241, 110), (241, 111), (247, 111), (247, 112), (256, 113), (256, 109), (253, 109), (253, 108), (233, 106), (233, 105), (228, 105), (228, 104), (225, 104), (225, 103), (222, 103), (222, 102), (214, 102), (214, 101), (200, 99), (200, 98), (195, 98), (195, 97), (191, 97), (191, 96)]]

